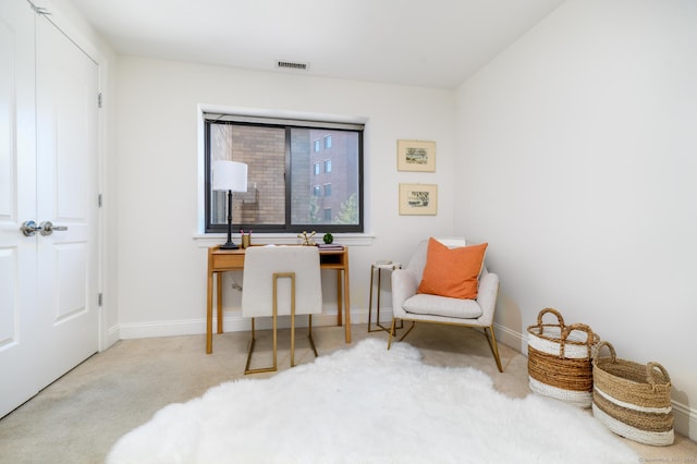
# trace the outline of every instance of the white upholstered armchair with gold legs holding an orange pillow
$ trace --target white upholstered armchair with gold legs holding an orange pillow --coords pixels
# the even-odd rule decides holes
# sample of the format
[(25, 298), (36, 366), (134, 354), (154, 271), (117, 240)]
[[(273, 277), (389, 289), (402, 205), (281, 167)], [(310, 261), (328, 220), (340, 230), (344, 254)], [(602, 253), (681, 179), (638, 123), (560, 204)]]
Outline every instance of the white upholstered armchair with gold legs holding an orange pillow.
[[(464, 246), (464, 239), (439, 239), (450, 248)], [(503, 373), (499, 347), (493, 333), (493, 313), (499, 293), (499, 276), (481, 267), (476, 300), (461, 300), (417, 293), (426, 267), (428, 240), (420, 242), (404, 269), (392, 272), (392, 327), (388, 350), (392, 345), (398, 320), (412, 321), (401, 340), (414, 329), (416, 322), (435, 322), (464, 327), (480, 327), (489, 342), (500, 373)], [(490, 335), (489, 335), (490, 332)]]

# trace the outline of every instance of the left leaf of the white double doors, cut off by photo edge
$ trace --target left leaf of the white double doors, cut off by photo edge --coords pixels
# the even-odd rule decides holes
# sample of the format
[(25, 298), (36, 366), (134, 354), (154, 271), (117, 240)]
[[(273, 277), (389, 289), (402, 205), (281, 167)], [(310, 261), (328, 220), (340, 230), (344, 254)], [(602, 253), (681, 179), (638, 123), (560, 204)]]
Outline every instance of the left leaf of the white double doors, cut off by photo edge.
[(0, 417), (38, 391), (35, 14), (26, 1), (0, 10)]

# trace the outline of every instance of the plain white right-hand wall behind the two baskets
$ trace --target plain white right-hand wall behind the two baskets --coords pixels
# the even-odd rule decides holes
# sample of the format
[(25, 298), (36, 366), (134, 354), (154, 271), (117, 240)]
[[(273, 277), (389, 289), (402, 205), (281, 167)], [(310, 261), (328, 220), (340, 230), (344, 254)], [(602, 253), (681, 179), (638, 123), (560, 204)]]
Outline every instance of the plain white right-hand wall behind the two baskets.
[(689, 0), (560, 7), (458, 89), (454, 218), (490, 243), (504, 340), (547, 306), (590, 325), (668, 369), (693, 439), (696, 26)]

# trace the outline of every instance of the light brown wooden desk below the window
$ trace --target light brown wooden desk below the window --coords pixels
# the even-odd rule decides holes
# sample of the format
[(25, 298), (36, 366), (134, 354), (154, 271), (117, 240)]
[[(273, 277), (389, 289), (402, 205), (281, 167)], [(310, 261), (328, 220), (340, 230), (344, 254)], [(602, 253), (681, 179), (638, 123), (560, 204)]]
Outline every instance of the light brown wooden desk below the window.
[[(293, 245), (289, 245), (293, 246)], [(206, 353), (213, 351), (213, 276), (216, 277), (216, 301), (218, 333), (222, 333), (222, 273), (244, 269), (244, 249), (220, 249), (220, 245), (208, 248), (208, 300), (206, 303)], [(346, 313), (345, 338), (351, 343), (351, 308), (348, 304), (348, 247), (320, 249), (319, 267), (337, 270), (337, 325), (342, 323), (342, 302)], [(343, 273), (343, 281), (342, 281)], [(342, 298), (343, 295), (343, 298)]]

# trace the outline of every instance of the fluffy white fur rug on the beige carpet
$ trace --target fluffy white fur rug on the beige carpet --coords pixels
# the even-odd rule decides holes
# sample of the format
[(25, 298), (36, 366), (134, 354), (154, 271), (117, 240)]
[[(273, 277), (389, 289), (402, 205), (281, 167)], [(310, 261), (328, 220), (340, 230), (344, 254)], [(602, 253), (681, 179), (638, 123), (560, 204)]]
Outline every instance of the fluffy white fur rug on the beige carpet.
[[(505, 374), (502, 374), (505, 376)], [(125, 463), (636, 463), (588, 413), (510, 399), (474, 368), (382, 340), (171, 404), (122, 437)]]

